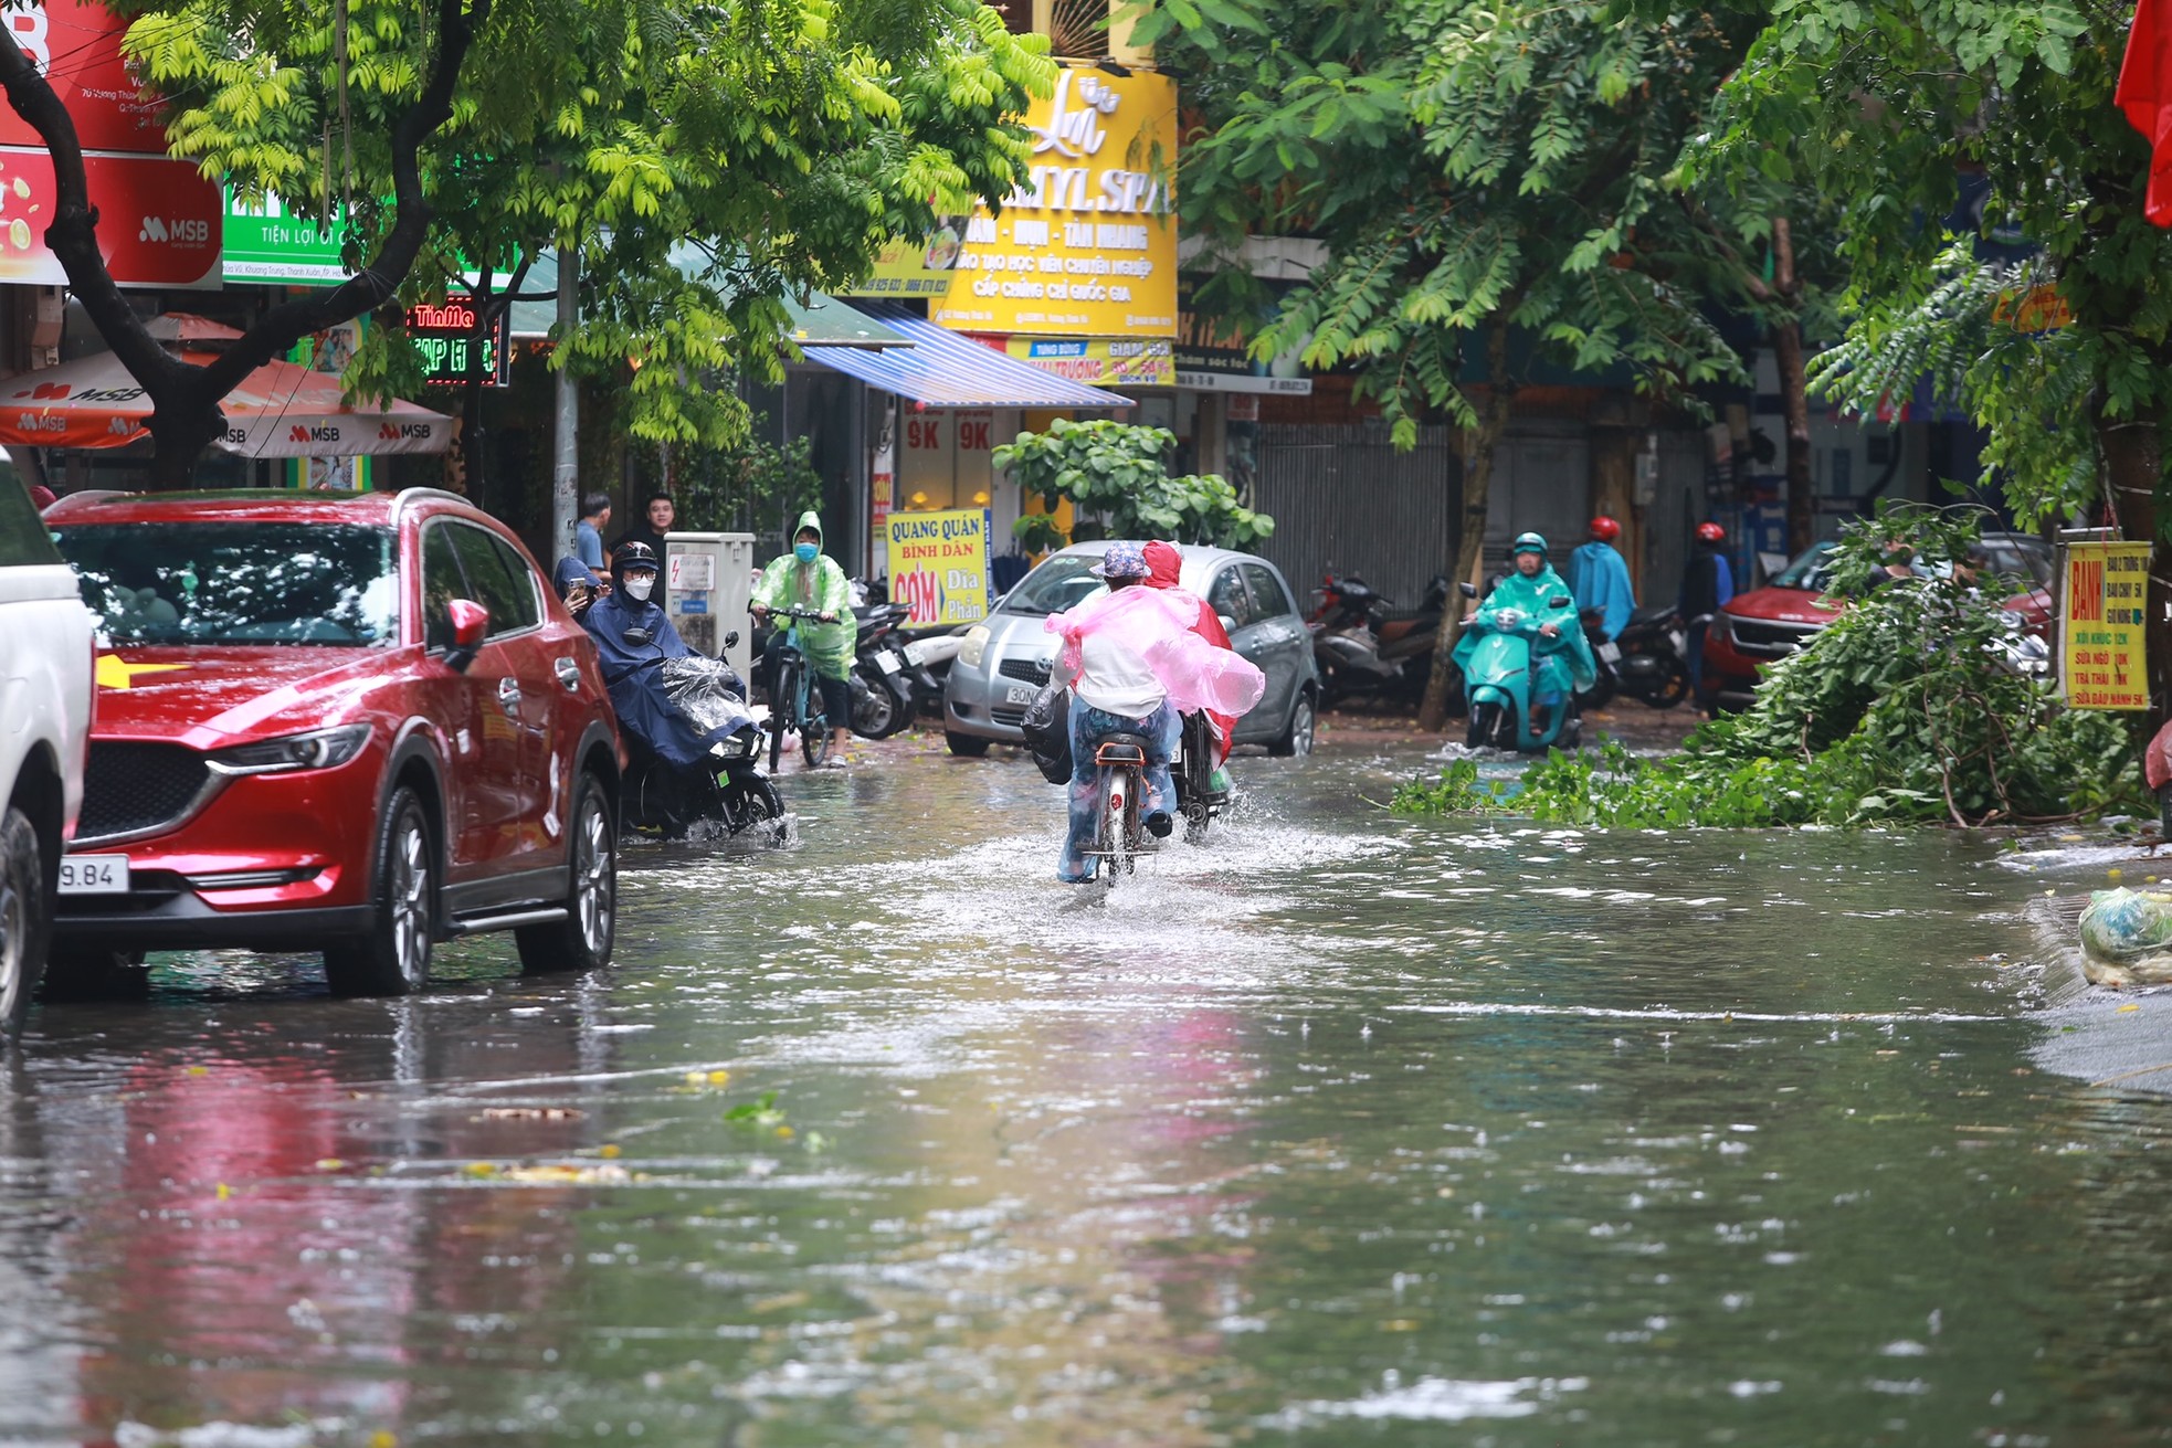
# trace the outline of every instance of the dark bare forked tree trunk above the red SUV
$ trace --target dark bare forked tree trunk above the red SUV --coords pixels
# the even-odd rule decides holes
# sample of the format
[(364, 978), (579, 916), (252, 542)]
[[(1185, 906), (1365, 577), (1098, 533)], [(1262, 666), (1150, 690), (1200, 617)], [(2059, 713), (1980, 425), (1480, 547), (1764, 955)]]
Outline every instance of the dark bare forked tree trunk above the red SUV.
[(39, 137), (52, 156), (54, 208), (46, 228), (46, 245), (67, 271), (67, 284), (83, 302), (98, 334), (113, 347), (150, 397), (152, 471), (156, 491), (185, 488), (195, 475), (204, 449), (226, 430), (219, 399), (243, 378), (313, 332), (321, 332), (369, 308), (389, 302), (406, 280), (415, 256), (430, 232), (430, 204), (421, 191), (421, 143), (452, 119), (452, 91), (476, 33), (489, 17), (491, 0), (437, 0), (439, 52), (415, 102), (400, 113), (391, 132), (393, 228), (356, 276), (339, 287), (311, 291), (280, 302), (256, 326), (241, 334), (215, 363), (198, 367), (169, 354), (150, 334), (143, 317), (128, 306), (119, 284), (98, 250), (98, 208), (91, 204), (83, 169), (83, 143), (76, 122), (37, 69), (13, 30), (0, 26), (0, 85), (9, 104)]

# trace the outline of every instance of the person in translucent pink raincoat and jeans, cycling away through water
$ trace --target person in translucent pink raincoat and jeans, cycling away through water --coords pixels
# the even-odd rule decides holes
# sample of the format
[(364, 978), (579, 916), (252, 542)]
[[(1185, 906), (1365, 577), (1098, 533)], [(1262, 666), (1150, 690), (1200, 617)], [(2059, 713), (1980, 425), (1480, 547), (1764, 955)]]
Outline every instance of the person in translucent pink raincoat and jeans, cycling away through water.
[(1071, 829), (1056, 862), (1056, 877), (1069, 884), (1093, 879), (1086, 851), (1099, 823), (1095, 745), (1110, 734), (1147, 740), (1147, 831), (1166, 838), (1175, 803), (1169, 760), (1182, 716), (1242, 714), (1266, 693), (1266, 675), (1251, 660), (1192, 634), (1199, 621), (1192, 595), (1142, 586), (1151, 569), (1136, 543), (1110, 543), (1090, 571), (1108, 582), (1108, 593), (1043, 623), (1064, 640), (1056, 677), (1071, 686)]

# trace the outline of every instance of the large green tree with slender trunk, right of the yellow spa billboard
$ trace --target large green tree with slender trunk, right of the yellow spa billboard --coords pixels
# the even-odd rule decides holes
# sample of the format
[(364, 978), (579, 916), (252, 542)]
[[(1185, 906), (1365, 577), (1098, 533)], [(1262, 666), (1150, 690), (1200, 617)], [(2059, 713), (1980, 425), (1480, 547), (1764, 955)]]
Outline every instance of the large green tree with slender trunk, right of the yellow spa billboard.
[[(1788, 185), (1699, 189), (1677, 167), (1753, 33), (1744, 17), (1616, 15), (1596, 0), (1212, 0), (1149, 11), (1134, 37), (1197, 56), (1205, 135), (1182, 204), (1210, 245), (1234, 254), (1247, 230), (1327, 243), (1255, 350), (1301, 343), (1314, 367), (1355, 367), (1403, 445), (1427, 417), (1466, 430), (1455, 571), (1468, 577), (1518, 384), (1512, 332), (1683, 399), (1742, 376), (1714, 304), (1798, 328), (1803, 269), (1766, 280), (1757, 256), (1770, 241), (1794, 261)], [(1242, 291), (1225, 276), (1214, 295)], [(1807, 436), (1801, 412), (1805, 480)], [(1440, 632), (1427, 727), (1444, 723), (1457, 636), (1455, 621)]]

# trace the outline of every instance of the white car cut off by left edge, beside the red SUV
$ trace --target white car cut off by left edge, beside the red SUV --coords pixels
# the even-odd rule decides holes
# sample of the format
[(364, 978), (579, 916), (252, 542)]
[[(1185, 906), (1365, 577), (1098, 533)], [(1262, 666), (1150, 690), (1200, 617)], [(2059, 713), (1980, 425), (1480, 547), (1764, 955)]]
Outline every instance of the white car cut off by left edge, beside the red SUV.
[(91, 732), (91, 614), (30, 495), (0, 475), (0, 1036), (46, 973)]

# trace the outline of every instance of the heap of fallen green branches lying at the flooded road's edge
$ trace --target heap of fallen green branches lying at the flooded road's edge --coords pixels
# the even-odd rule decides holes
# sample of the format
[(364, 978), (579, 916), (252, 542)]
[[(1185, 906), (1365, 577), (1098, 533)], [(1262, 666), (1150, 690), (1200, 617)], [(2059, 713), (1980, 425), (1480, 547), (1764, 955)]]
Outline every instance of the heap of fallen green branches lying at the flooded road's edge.
[(1512, 803), (1451, 771), (1405, 786), (1394, 805), (1631, 829), (1983, 825), (2146, 810), (2129, 725), (2066, 710), (2048, 684), (2007, 669), (1998, 599), (1946, 580), (1868, 588), (1894, 543), (1918, 560), (1953, 560), (1972, 536), (1972, 515), (1920, 508), (1851, 525), (1833, 588), (1853, 601), (1807, 649), (1766, 669), (1748, 710), (1701, 725), (1675, 758), (1646, 760), (1620, 745), (1596, 758), (1553, 751), (1525, 773)]

